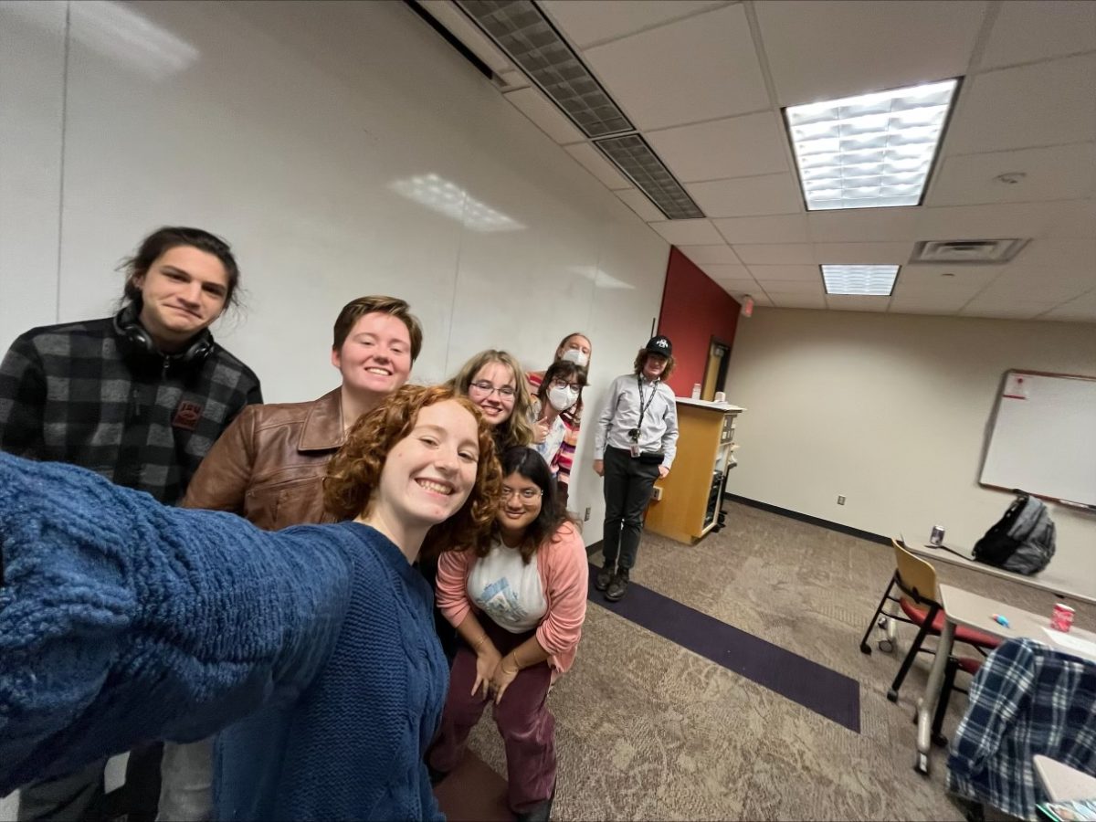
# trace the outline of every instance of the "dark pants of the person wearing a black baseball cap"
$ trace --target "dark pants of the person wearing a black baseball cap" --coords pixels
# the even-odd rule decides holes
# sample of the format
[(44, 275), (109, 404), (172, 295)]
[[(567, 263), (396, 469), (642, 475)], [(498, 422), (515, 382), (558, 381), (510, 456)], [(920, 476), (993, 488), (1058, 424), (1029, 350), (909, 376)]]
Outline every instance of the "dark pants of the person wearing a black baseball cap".
[[(643, 533), (643, 514), (651, 501), (659, 466), (643, 465), (623, 448), (605, 449), (605, 563), (631, 570)], [(619, 560), (617, 555), (619, 553)]]

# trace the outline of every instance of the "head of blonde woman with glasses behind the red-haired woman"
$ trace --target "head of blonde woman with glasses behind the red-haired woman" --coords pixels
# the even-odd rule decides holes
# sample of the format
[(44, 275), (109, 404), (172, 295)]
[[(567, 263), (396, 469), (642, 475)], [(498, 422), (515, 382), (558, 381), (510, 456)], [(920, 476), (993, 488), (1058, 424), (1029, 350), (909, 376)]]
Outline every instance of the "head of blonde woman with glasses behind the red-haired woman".
[(481, 351), (447, 385), (479, 406), (500, 453), (533, 442), (533, 400), (525, 370), (511, 354)]

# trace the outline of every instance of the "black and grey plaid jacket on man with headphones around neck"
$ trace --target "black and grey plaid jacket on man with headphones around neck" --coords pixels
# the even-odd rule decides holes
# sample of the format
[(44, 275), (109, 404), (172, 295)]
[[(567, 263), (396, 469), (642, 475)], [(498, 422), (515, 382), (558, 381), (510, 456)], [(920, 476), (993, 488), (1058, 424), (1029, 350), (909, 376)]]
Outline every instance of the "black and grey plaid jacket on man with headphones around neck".
[(70, 463), (178, 503), (214, 441), (262, 402), (219, 345), (201, 364), (123, 356), (112, 319), (31, 329), (0, 363), (0, 449)]

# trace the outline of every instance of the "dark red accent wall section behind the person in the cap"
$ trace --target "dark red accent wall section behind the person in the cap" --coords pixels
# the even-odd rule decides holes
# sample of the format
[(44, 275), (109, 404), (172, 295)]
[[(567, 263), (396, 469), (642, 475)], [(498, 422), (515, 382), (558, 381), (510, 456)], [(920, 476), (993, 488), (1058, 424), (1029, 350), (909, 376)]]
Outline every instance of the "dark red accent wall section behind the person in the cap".
[[(659, 333), (669, 336), (674, 345), (677, 367), (666, 383), (675, 395), (688, 397), (696, 383), (704, 383), (712, 336), (728, 345), (734, 343), (741, 308), (685, 254), (670, 249)], [(716, 390), (722, 390), (722, 386)]]

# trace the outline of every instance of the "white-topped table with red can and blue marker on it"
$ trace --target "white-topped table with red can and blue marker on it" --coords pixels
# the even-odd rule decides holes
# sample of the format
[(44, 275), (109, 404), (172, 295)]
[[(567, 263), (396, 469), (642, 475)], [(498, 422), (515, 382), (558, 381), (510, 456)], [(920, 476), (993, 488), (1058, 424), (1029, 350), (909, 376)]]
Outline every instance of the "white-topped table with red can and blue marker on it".
[[(939, 587), (939, 602), (944, 606), (945, 615), (944, 630), (940, 631), (940, 641), (936, 646), (936, 655), (933, 658), (933, 667), (928, 672), (925, 694), (917, 700), (917, 761), (914, 767), (922, 774), (928, 773), (933, 711), (936, 708), (936, 700), (939, 699), (940, 688), (944, 686), (944, 671), (948, 664), (948, 657), (951, 655), (957, 625), (963, 625), (1002, 639), (1030, 639), (1074, 657), (1096, 662), (1096, 633), (1092, 631), (1074, 625), (1069, 633), (1062, 635), (1063, 639), (1072, 638), (1092, 643), (1092, 646), (1089, 648), (1068, 648), (1064, 642), (1055, 642), (1051, 632), (1048, 632), (1050, 631), (1049, 614), (1039, 615), (1020, 610), (1012, 605), (979, 596), (951, 585), (940, 585)], [(1008, 627), (998, 625), (993, 619), (994, 614), (1007, 618)]]

